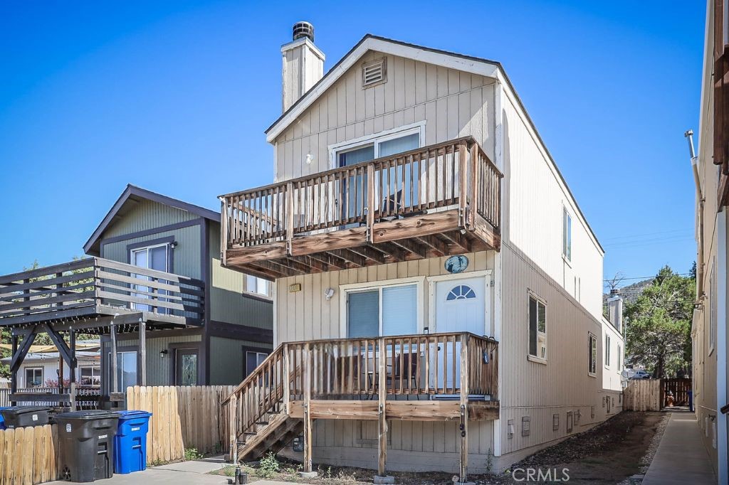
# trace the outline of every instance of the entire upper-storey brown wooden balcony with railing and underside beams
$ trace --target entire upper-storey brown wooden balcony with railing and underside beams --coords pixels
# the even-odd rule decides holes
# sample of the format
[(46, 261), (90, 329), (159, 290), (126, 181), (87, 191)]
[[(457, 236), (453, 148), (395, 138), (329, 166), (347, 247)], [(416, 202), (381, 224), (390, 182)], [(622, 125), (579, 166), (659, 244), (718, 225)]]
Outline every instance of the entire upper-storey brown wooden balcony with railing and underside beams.
[(227, 194), (222, 261), (275, 279), (499, 251), (501, 179), (469, 137)]

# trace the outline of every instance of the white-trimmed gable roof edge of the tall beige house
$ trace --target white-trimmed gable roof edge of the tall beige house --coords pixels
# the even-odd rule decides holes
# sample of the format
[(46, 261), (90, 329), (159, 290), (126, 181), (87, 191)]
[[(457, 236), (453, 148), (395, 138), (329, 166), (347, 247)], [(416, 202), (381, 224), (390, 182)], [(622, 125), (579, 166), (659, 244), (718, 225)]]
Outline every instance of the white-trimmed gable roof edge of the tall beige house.
[(536, 135), (537, 140), (539, 140), (539, 143), (542, 146), (541, 148), (544, 149), (545, 154), (547, 154), (550, 162), (552, 162), (555, 172), (562, 184), (564, 184), (569, 197), (572, 198), (574, 207), (577, 208), (577, 212), (580, 213), (580, 217), (592, 235), (599, 251), (602, 254), (605, 253), (604, 248), (597, 238), (597, 234), (593, 231), (592, 226), (590, 226), (590, 223), (585, 217), (585, 214), (582, 213), (580, 205), (577, 204), (577, 199), (574, 197), (574, 194), (572, 194), (572, 190), (569, 188), (569, 185), (567, 185), (567, 181), (562, 175), (561, 170), (559, 170), (557, 163), (554, 161), (554, 157), (552, 157), (549, 149), (547, 149), (547, 145), (542, 139), (542, 135), (539, 134), (537, 127), (534, 125), (534, 122), (529, 116), (529, 112), (526, 111), (521, 98), (514, 89), (514, 85), (509, 79), (509, 76), (507, 76), (506, 71), (504, 71), (504, 67), (496, 60), (477, 58), (472, 55), (464, 55), (447, 50), (433, 49), (432, 47), (410, 44), (408, 42), (388, 39), (387, 37), (375, 36), (371, 33), (367, 33), (367, 35), (362, 37), (362, 40), (357, 42), (357, 44), (352, 47), (351, 50), (349, 50), (349, 52), (347, 52), (343, 58), (334, 65), (334, 67), (327, 71), (327, 74), (324, 74), (324, 77), (319, 79), (319, 82), (314, 84), (311, 89), (299, 98), (296, 103), (289, 107), (284, 114), (281, 114), (281, 116), (273, 122), (273, 125), (270, 125), (270, 127), (265, 130), (266, 141), (268, 141), (268, 143), (273, 143), (278, 135), (281, 135), (281, 133), (283, 133), (284, 130), (292, 124), (292, 122), (300, 117), (300, 115), (303, 114), (303, 112), (308, 109), (317, 98), (319, 98), (319, 95), (329, 89), (332, 84), (335, 84), (335, 82), (337, 82), (337, 80), (340, 79), (340, 77), (343, 76), (343, 74), (345, 74), (346, 71), (348, 71), (348, 69), (351, 68), (351, 66), (353, 66), (369, 50), (383, 52), (384, 54), (397, 55), (408, 59), (420, 60), (421, 62), (434, 64), (435, 66), (457, 69), (459, 71), (469, 72), (480, 76), (492, 77), (504, 82), (510, 92), (512, 92), (512, 95), (523, 112), (526, 121), (529, 123), (531, 130), (534, 131), (534, 135)]

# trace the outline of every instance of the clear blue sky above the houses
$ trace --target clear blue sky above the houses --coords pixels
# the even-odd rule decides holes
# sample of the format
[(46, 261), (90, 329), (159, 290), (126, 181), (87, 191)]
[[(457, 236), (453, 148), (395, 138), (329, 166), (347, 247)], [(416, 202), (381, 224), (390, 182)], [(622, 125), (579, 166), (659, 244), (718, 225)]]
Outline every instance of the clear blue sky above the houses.
[(214, 210), (218, 194), (270, 183), (263, 130), (297, 20), (315, 25), (327, 69), (365, 33), (501, 61), (607, 251), (606, 277), (685, 272), (683, 133), (698, 127), (705, 8), (2, 2), (0, 274), (80, 256), (127, 183)]

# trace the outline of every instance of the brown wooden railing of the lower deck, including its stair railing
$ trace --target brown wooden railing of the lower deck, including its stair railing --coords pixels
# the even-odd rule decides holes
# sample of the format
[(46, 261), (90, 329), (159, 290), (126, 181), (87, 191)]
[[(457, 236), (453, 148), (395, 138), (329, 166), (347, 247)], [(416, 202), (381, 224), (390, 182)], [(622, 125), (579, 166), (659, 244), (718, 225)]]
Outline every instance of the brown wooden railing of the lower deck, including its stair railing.
[(391, 399), (456, 398), (464, 375), (469, 395), (497, 401), (498, 362), (498, 342), (467, 333), (286, 342), (235, 387), (223, 401), (223, 415), (238, 436), (254, 430), (267, 413), (307, 396), (376, 400), (383, 382)]

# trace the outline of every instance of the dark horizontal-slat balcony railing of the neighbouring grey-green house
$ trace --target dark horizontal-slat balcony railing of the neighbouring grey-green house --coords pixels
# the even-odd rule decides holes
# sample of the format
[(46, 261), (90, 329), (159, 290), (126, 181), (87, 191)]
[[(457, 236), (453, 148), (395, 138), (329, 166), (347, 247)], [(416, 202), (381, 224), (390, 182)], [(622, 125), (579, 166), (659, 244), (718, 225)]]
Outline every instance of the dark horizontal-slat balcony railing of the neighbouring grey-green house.
[(63, 318), (99, 305), (203, 317), (203, 281), (102, 258), (0, 276), (0, 326)]

